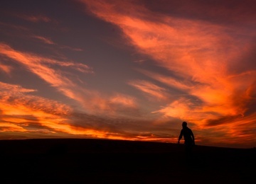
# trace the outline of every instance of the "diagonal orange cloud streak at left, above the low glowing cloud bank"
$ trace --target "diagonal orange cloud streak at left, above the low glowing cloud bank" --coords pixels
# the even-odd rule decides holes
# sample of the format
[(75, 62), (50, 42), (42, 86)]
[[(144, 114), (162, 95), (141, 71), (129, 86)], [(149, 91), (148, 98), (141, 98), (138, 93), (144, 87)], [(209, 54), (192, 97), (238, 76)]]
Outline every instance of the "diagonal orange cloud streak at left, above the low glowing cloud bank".
[[(76, 81), (76, 78), (68, 77), (67, 69), (80, 71), (84, 74), (92, 73), (92, 69), (86, 64), (59, 61), (36, 54), (19, 52), (5, 44), (0, 44), (0, 49), (1, 55), (21, 64), (28, 71), (36, 74), (50, 86), (63, 93), (64, 96), (77, 101), (84, 110), (91, 113), (105, 113), (107, 111), (110, 114), (116, 114), (120, 109), (120, 105), (122, 106), (121, 109), (136, 108), (134, 98), (132, 97), (122, 94), (113, 97), (102, 96), (102, 93), (99, 91), (80, 86), (80, 82)], [(70, 71), (70, 76), (72, 75)]]

